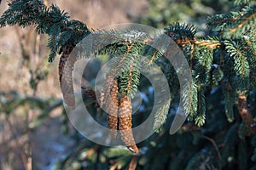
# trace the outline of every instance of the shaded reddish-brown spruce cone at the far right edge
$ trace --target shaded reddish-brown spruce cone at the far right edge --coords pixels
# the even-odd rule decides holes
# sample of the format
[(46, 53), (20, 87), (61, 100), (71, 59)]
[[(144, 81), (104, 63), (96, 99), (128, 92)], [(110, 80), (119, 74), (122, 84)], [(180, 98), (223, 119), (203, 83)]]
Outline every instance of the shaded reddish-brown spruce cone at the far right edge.
[(252, 133), (256, 133), (256, 122), (253, 121), (253, 115), (247, 106), (247, 96), (245, 94), (239, 95), (237, 108), (242, 120), (250, 128), (249, 135)]

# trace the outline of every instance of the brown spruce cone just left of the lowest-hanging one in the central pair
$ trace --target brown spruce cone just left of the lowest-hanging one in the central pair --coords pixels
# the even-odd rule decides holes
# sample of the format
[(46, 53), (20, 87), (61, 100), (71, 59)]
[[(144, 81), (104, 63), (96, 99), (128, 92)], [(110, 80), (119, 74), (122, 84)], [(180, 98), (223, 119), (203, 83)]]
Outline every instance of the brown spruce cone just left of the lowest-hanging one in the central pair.
[(111, 130), (111, 136), (116, 138), (118, 130), (119, 88), (116, 79), (111, 75), (106, 76), (104, 93), (108, 116), (108, 128)]

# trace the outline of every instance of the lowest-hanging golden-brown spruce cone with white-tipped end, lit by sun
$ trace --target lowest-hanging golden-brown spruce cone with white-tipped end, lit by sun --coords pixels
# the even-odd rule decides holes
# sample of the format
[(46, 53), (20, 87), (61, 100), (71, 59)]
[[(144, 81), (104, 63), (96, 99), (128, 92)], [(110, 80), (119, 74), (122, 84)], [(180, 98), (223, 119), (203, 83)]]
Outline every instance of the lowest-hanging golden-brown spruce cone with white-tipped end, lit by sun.
[(131, 152), (137, 153), (139, 150), (133, 138), (133, 133), (131, 129), (131, 100), (127, 95), (123, 95), (120, 99), (119, 106), (119, 130), (121, 134), (121, 139), (124, 141), (125, 145)]

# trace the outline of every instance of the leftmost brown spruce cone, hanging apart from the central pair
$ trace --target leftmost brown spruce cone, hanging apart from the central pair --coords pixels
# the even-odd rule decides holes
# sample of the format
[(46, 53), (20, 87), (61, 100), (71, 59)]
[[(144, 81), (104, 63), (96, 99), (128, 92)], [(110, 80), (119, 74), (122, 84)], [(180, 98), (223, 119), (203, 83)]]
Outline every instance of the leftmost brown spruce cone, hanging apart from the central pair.
[(63, 94), (63, 98), (67, 106), (71, 109), (75, 108), (75, 99), (73, 94), (73, 65), (75, 63), (75, 59), (68, 59), (69, 54), (73, 51), (75, 45), (73, 43), (69, 43), (61, 48), (61, 59), (59, 63), (59, 78), (61, 83), (61, 93)]

